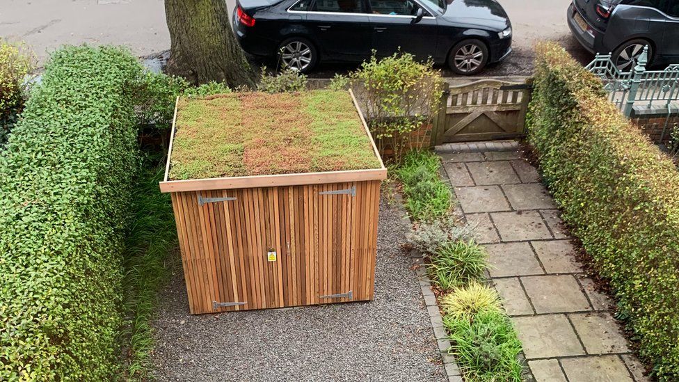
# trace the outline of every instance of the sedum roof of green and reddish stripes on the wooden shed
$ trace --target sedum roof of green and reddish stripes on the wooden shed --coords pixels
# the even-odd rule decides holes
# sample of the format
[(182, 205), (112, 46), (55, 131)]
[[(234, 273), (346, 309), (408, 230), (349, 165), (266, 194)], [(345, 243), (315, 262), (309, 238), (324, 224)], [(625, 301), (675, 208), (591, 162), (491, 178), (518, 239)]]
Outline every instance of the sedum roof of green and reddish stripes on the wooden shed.
[(380, 168), (344, 91), (182, 98), (170, 180)]

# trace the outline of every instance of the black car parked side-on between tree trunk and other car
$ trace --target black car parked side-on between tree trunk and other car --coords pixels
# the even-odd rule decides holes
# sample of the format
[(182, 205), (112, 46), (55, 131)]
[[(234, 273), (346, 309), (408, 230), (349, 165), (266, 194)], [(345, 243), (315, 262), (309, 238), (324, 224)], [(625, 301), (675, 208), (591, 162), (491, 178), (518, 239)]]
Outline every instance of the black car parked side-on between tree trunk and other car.
[(477, 74), (511, 52), (511, 24), (495, 0), (238, 0), (245, 51), (308, 72), (405, 51)]

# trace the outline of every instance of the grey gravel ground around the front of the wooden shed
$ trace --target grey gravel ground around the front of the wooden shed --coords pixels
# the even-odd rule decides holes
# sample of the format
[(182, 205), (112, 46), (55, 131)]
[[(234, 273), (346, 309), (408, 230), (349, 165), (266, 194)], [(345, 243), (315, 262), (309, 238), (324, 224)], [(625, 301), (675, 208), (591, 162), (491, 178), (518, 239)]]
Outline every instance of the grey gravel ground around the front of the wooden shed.
[(189, 315), (179, 271), (160, 296), (159, 381), (446, 381), (415, 271), (408, 224), (381, 203), (375, 299)]

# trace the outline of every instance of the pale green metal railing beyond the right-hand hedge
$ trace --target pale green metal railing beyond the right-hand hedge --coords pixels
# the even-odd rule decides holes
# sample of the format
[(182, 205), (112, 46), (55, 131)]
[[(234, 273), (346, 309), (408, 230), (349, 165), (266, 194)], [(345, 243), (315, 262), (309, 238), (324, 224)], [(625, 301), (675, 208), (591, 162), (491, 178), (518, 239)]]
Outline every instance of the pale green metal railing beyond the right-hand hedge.
[[(611, 54), (597, 54), (586, 69), (596, 74), (609, 93), (609, 100), (621, 109), (625, 116), (632, 116), (635, 104), (663, 106), (668, 115), (679, 100), (679, 64), (669, 65), (665, 70), (646, 70), (648, 45), (639, 56), (631, 72), (621, 72)], [(676, 106), (674, 106), (676, 109)]]

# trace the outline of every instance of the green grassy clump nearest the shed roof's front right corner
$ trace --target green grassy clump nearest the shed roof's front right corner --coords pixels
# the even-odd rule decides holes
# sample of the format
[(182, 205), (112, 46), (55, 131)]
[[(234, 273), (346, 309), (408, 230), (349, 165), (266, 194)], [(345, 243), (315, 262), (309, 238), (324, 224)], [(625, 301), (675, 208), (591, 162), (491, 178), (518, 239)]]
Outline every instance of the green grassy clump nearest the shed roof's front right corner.
[(394, 173), (404, 184), (406, 209), (416, 220), (446, 216), (452, 207), (450, 187), (438, 175), (436, 154), (413, 150), (404, 156)]

